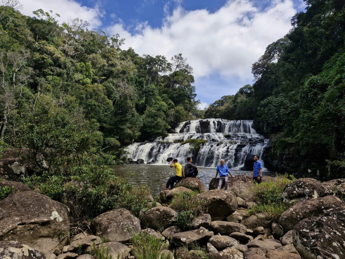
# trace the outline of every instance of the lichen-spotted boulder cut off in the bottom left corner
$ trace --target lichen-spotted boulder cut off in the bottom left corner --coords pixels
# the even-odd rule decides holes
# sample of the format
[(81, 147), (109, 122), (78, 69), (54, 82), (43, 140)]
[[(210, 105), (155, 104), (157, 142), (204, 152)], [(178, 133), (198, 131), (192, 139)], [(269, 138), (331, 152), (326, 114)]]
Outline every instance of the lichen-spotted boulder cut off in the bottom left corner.
[(17, 241), (0, 241), (0, 258), (4, 259), (46, 259), (46, 256), (27, 244)]

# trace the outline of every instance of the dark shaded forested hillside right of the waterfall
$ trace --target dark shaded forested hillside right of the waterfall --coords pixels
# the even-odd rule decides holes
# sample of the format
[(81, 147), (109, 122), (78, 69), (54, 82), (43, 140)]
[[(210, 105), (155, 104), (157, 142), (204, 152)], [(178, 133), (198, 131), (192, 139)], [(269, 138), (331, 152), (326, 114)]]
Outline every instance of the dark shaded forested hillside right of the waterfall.
[(275, 129), (277, 169), (339, 177), (345, 166), (345, 6), (342, 0), (304, 2), (293, 29), (253, 64), (253, 86), (223, 96), (205, 117), (262, 119)]

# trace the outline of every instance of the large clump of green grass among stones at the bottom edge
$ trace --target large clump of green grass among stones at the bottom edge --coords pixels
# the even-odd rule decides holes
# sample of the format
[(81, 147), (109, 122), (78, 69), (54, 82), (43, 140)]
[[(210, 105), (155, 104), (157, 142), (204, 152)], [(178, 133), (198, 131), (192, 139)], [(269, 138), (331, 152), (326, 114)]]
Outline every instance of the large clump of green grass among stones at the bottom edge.
[(132, 253), (136, 259), (171, 259), (168, 254), (161, 255), (164, 241), (145, 232), (132, 235)]

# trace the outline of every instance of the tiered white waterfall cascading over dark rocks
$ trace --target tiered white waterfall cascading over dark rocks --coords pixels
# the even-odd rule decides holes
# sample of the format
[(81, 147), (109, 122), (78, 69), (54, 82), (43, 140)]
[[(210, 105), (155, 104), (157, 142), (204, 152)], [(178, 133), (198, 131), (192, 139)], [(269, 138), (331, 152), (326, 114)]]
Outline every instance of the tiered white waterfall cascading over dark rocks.
[[(167, 164), (166, 159), (174, 157), (184, 164), (186, 157), (191, 156), (194, 164), (204, 167), (216, 167), (220, 159), (224, 159), (229, 168), (240, 169), (249, 153), (260, 155), (262, 160), (265, 147), (270, 143), (256, 133), (250, 120), (195, 119), (180, 123), (175, 132), (155, 142), (129, 145), (129, 157), (143, 159), (150, 164)], [(207, 142), (193, 154), (189, 143), (179, 143), (187, 139), (204, 139)]]

